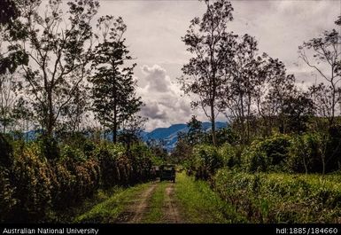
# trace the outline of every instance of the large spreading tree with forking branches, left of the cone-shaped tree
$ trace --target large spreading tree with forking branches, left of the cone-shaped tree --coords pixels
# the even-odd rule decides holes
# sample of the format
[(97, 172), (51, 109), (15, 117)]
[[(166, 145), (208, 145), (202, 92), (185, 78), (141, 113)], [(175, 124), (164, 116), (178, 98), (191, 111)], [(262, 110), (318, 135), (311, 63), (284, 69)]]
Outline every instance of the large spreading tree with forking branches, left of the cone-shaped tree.
[(84, 80), (91, 55), (90, 21), (99, 4), (94, 0), (69, 2), (67, 12), (61, 0), (50, 0), (43, 13), (41, 1), (19, 1), (20, 17), (11, 30), (11, 48), (30, 59), (23, 65), (27, 96), (47, 137), (52, 137), (58, 118)]

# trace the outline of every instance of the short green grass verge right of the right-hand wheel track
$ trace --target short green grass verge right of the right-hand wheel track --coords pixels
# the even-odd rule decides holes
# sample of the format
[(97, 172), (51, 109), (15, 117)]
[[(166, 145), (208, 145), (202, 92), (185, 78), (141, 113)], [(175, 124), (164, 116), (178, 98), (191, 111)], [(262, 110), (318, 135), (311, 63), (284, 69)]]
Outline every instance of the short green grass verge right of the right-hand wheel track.
[(208, 183), (180, 173), (176, 176), (175, 197), (184, 223), (236, 223), (244, 218), (221, 200)]

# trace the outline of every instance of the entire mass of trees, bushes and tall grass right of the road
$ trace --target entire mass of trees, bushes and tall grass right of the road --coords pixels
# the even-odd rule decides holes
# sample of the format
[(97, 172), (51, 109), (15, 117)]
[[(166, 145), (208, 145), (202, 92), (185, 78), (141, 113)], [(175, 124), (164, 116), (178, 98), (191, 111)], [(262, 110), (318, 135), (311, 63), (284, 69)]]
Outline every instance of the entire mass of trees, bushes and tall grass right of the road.
[[(206, 12), (182, 37), (192, 57), (179, 82), (199, 97), (192, 106), (212, 128), (204, 131), (192, 116), (172, 159), (229, 205), (228, 220), (233, 210), (244, 223), (340, 223), (341, 36), (330, 29), (299, 46), (320, 83), (298, 88), (295, 74), (259, 51), (255, 37), (227, 31), (228, 1), (203, 2)], [(215, 128), (218, 113), (227, 128)]]

